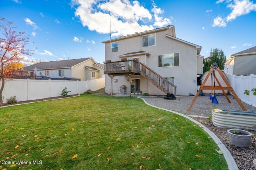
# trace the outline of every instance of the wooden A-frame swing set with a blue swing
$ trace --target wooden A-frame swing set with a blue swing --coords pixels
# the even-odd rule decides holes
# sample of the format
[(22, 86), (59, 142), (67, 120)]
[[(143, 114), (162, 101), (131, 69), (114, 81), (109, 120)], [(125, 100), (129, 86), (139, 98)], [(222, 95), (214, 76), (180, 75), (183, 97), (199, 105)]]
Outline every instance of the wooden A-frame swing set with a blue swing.
[[(224, 80), (224, 82), (226, 83), (226, 87), (222, 87), (218, 78), (215, 76), (215, 70), (218, 71), (218, 73), (220, 74), (221, 78)], [(210, 74), (212, 74), (212, 86), (205, 86), (204, 84), (206, 83), (206, 81), (208, 80)], [(218, 82), (218, 86), (215, 86), (215, 80)], [(194, 97), (192, 103), (190, 104), (190, 106), (188, 107), (188, 111), (191, 110), (194, 102), (196, 102), (196, 98), (199, 96), (200, 92), (202, 90), (212, 90), (212, 94), (210, 94), (210, 100), (212, 100), (213, 104), (218, 104), (218, 100), (216, 98), (216, 94), (215, 94), (215, 90), (222, 90), (224, 96), (226, 97), (226, 99), (228, 100), (228, 103), (231, 103), (228, 95), (225, 93), (224, 90), (230, 90), (230, 92), (232, 92), (234, 98), (236, 99), (236, 101), (238, 102), (238, 104), (240, 105), (240, 107), (243, 109), (243, 111), (247, 111), (246, 108), (244, 107), (243, 103), (241, 102), (241, 100), (238, 98), (238, 96), (236, 95), (236, 92), (234, 91), (234, 89), (230, 86), (230, 84), (228, 83), (228, 80), (226, 80), (225, 76), (223, 75), (222, 71), (220, 70), (220, 68), (218, 67), (217, 63), (213, 63), (210, 67), (210, 71), (208, 72), (206, 78), (204, 79), (204, 82), (202, 83), (201, 87), (199, 88), (198, 92), (196, 93), (196, 96)]]

